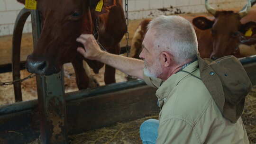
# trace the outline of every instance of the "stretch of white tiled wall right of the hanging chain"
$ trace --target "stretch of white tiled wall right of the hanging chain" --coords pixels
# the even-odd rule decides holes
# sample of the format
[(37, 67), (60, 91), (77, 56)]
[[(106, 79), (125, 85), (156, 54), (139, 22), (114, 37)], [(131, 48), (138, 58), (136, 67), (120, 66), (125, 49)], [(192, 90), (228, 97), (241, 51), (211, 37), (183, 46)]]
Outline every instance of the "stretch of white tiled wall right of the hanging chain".
[[(205, 0), (128, 0), (129, 19), (153, 18), (175, 13), (206, 12)], [(146, 4), (146, 2), (148, 4)], [(209, 0), (216, 9), (242, 8), (247, 0)], [(124, 0), (123, 0), (124, 3)], [(162, 9), (166, 8), (166, 9)]]

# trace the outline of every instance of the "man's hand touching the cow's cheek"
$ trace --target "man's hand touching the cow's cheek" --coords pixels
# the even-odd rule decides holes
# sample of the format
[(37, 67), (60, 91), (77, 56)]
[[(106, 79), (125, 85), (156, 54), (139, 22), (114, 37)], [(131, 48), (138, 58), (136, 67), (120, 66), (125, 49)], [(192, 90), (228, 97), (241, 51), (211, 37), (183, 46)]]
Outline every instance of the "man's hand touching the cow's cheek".
[(93, 35), (82, 34), (76, 39), (76, 41), (80, 42), (84, 46), (84, 49), (82, 47), (78, 47), (77, 51), (85, 58), (90, 60), (98, 60), (101, 57), (103, 51)]

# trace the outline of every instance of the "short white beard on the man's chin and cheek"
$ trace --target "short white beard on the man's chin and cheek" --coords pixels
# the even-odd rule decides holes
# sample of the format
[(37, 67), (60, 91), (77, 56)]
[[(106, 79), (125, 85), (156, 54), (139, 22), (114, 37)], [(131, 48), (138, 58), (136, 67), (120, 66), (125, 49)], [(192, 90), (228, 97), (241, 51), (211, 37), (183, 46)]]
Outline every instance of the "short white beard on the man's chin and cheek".
[(155, 63), (153, 63), (153, 65), (150, 68), (151, 71), (149, 71), (146, 63), (145, 63), (145, 67), (143, 69), (144, 74), (148, 77), (153, 77), (153, 78), (157, 78), (160, 74), (162, 74), (162, 67), (161, 67), (161, 63), (160, 61), (155, 61)]

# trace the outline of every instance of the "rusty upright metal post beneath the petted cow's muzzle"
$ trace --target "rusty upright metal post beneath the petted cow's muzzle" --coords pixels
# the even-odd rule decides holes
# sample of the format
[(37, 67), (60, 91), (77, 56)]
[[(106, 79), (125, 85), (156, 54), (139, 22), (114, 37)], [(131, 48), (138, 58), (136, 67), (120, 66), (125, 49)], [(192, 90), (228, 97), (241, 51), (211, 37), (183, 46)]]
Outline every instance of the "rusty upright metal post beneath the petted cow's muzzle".
[[(31, 10), (34, 48), (41, 33), (38, 10)], [(63, 69), (50, 76), (37, 75), (42, 144), (68, 144)]]

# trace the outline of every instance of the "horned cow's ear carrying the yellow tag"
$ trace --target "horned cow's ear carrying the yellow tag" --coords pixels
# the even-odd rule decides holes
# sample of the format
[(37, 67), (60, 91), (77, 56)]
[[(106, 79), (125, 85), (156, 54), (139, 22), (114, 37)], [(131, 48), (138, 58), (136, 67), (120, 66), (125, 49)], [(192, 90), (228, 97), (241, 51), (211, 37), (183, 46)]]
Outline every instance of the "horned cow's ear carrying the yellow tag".
[(245, 36), (252, 36), (256, 34), (256, 22), (250, 21), (246, 24), (242, 24), (239, 31)]

